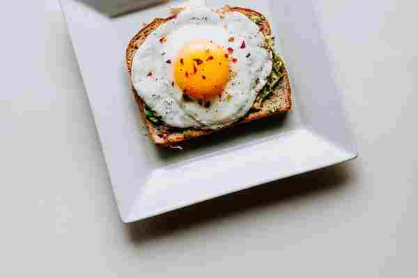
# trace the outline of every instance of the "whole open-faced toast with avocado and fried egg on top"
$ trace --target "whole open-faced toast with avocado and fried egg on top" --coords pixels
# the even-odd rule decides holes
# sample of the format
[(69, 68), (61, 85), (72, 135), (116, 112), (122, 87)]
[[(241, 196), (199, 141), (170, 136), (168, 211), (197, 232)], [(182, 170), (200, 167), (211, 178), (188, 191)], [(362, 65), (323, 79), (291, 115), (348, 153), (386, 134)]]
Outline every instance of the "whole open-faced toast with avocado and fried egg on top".
[(286, 68), (261, 13), (184, 8), (144, 26), (127, 47), (132, 90), (157, 145), (291, 110)]

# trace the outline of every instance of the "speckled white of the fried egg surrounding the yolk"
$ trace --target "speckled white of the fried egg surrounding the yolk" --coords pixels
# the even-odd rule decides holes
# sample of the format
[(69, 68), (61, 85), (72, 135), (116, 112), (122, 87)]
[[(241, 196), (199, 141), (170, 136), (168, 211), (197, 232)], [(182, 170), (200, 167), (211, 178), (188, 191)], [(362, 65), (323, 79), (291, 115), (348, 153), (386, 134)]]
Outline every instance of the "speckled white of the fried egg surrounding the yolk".
[[(161, 43), (162, 37), (167, 41)], [(229, 42), (231, 37), (233, 42)], [(181, 47), (195, 40), (211, 40), (224, 49), (231, 47), (231, 56), (237, 59), (230, 64), (234, 74), (224, 92), (214, 97), (207, 108), (183, 99), (183, 92), (172, 86), (173, 64), (166, 63), (176, 58)], [(132, 63), (132, 83), (139, 97), (170, 126), (219, 129), (243, 117), (267, 81), (272, 56), (262, 47), (263, 40), (258, 26), (241, 13), (226, 13), (221, 18), (208, 8), (185, 10), (159, 26), (141, 44)]]

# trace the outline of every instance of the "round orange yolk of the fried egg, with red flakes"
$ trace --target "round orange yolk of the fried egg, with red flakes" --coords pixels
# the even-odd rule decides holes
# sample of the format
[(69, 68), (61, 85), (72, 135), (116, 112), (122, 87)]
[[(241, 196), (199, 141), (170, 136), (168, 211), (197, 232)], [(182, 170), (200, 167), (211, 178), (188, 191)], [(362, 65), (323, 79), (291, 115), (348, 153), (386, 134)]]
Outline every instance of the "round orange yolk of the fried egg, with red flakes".
[(229, 81), (229, 55), (208, 40), (199, 40), (180, 49), (173, 63), (174, 82), (194, 99), (219, 95)]

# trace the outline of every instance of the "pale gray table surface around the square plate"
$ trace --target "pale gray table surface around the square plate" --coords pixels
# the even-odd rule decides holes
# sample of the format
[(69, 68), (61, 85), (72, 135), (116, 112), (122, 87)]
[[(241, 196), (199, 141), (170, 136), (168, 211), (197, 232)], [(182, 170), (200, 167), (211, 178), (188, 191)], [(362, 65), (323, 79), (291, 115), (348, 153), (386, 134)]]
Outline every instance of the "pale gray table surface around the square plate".
[(417, 277), (418, 5), (315, 3), (359, 158), (129, 225), (58, 3), (3, 3), (0, 276)]

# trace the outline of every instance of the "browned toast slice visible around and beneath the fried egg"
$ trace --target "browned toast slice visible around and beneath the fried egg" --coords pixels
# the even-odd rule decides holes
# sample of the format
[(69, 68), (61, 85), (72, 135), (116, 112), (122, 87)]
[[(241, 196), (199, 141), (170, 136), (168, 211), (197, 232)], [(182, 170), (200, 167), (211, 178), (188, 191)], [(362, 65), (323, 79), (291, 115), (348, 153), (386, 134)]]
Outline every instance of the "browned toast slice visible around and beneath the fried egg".
[[(256, 12), (255, 10), (250, 10), (248, 8), (240, 8), (240, 7), (233, 7), (230, 8), (231, 10), (242, 13), (247, 17), (258, 17), (263, 20), (257, 22), (258, 26), (260, 26), (261, 31), (264, 35), (271, 35), (271, 28), (268, 21), (261, 15), (261, 13)], [(169, 20), (176, 18), (176, 15), (171, 17), (167, 17), (165, 19), (156, 18), (150, 24), (144, 26), (134, 38), (130, 41), (127, 46), (126, 51), (126, 66), (128, 73), (131, 74), (132, 70), (132, 60), (134, 55), (138, 49), (138, 47), (144, 42), (146, 37), (153, 31), (155, 28), (158, 28), (160, 24), (164, 24), (164, 22), (168, 22)], [(254, 120), (263, 119), (265, 117), (270, 117), (273, 115), (277, 115), (279, 113), (285, 113), (287, 111), (291, 111), (292, 108), (292, 101), (291, 101), (291, 86), (290, 81), (288, 78), (288, 73), (286, 68), (283, 66), (284, 76), (279, 81), (274, 92), (271, 92), (268, 97), (266, 97), (263, 102), (261, 103), (261, 107), (257, 111), (250, 111), (242, 117), (242, 119), (235, 122), (233, 125), (236, 124), (243, 124), (246, 122), (252, 122)], [(141, 116), (144, 119), (146, 127), (148, 129), (148, 136), (150, 136), (151, 140), (157, 145), (164, 145), (164, 146), (173, 146), (178, 145), (179, 142), (183, 142), (185, 140), (189, 140), (190, 138), (196, 138), (200, 136), (204, 136), (222, 129), (217, 130), (201, 130), (201, 129), (192, 129), (192, 128), (173, 128), (171, 126), (167, 126), (166, 124), (155, 125), (153, 122), (150, 122), (145, 115), (144, 112), (144, 101), (138, 96), (134, 86), (131, 83), (132, 92), (134, 93), (135, 100), (137, 101), (139, 111), (141, 112)], [(232, 125), (232, 126), (233, 126)], [(224, 127), (223, 129), (228, 128), (229, 126)]]

